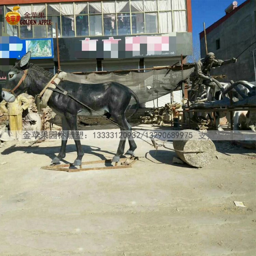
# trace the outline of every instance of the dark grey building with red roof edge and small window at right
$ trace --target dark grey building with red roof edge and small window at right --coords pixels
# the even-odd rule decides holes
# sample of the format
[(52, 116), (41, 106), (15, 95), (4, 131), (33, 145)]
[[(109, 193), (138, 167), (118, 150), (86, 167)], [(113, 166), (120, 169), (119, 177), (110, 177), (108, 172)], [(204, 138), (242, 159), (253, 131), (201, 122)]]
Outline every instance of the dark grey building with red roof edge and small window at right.
[[(218, 59), (236, 58), (256, 41), (256, 1), (247, 0), (226, 13), (206, 29), (208, 52), (214, 52)], [(224, 12), (224, 10), (223, 10)], [(200, 33), (201, 57), (206, 53), (204, 32)], [(225, 74), (223, 82), (230, 80), (256, 81), (256, 44), (245, 50), (234, 65), (212, 69), (212, 75)]]

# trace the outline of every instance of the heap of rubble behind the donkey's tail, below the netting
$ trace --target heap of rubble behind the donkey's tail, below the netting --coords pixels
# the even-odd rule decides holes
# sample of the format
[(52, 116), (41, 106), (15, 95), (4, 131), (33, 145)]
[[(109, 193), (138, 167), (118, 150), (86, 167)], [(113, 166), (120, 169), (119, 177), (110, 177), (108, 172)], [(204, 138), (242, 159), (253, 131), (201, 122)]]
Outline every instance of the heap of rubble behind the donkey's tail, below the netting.
[(180, 118), (182, 115), (182, 104), (173, 102), (167, 103), (164, 107), (154, 108), (151, 111), (145, 111), (144, 116), (140, 116), (141, 124), (163, 125), (170, 123), (173, 118)]

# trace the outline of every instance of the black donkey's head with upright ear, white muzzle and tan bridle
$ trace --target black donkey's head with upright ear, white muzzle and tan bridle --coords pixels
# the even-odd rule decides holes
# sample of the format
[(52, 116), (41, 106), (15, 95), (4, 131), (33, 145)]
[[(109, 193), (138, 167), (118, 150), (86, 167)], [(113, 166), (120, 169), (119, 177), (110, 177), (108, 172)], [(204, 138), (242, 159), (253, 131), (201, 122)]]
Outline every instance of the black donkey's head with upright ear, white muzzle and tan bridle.
[(2, 98), (7, 102), (14, 102), (16, 97), (24, 93), (31, 82), (27, 77), (29, 59), (31, 52), (27, 52), (21, 60), (9, 71), (4, 88), (2, 88)]

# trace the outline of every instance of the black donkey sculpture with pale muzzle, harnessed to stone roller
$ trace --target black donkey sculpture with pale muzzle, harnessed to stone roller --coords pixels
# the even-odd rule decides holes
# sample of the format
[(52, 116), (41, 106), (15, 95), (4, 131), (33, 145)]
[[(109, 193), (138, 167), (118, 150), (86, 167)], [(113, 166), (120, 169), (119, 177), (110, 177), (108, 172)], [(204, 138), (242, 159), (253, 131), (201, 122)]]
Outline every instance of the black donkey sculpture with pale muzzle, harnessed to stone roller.
[[(13, 102), (15, 98), (27, 91), (28, 94), (36, 96), (44, 89), (54, 76), (45, 69), (29, 63), (31, 52), (27, 52), (21, 60), (9, 71), (8, 78), (5, 83), (5, 88), (2, 89), (2, 98), (7, 102)], [(131, 97), (136, 101), (135, 114), (139, 109), (139, 99), (134, 92), (119, 83), (108, 82), (101, 84), (81, 84), (70, 81), (61, 81), (59, 84), (64, 91), (72, 95), (75, 99), (93, 109), (98, 113), (106, 116), (108, 119), (112, 117), (121, 131), (131, 131), (131, 126), (126, 120), (125, 111)], [(53, 111), (61, 116), (63, 131), (77, 131), (77, 114), (80, 112), (89, 113), (88, 109), (74, 99), (53, 91), (49, 98), (48, 105)], [(126, 137), (125, 137), (126, 138)], [(128, 138), (129, 150), (128, 155), (133, 155), (137, 148), (133, 138)], [(125, 140), (120, 139), (117, 153), (112, 159), (112, 162), (118, 162), (120, 156), (124, 154)], [(52, 160), (56, 164), (60, 159), (66, 156), (67, 137), (62, 138), (61, 148), (57, 157)], [(77, 158), (73, 165), (78, 166), (82, 163), (84, 155), (80, 139), (75, 139), (77, 150)]]

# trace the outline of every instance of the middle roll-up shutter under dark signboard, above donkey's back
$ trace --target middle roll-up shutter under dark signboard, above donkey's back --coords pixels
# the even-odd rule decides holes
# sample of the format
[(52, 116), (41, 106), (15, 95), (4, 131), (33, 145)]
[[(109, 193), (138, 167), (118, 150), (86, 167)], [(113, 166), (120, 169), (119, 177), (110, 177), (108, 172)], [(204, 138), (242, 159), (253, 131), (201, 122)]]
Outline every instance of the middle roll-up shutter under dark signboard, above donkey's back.
[(102, 60), (102, 67), (106, 71), (138, 69), (139, 61), (140, 59)]

